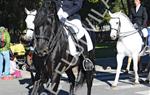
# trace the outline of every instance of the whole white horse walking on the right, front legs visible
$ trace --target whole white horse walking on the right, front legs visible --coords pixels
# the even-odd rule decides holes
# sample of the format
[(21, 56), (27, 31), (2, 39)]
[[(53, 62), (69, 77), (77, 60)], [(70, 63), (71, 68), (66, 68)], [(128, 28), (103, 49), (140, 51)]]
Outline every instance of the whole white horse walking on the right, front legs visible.
[[(138, 56), (142, 49), (143, 41), (132, 24), (129, 18), (122, 12), (111, 13), (109, 12), (111, 19), (109, 21), (111, 25), (110, 37), (117, 41), (117, 71), (114, 83), (112, 86), (117, 86), (123, 59), (125, 56), (130, 56), (133, 59), (135, 84), (139, 83), (138, 76)], [(146, 35), (146, 34), (145, 34)]]

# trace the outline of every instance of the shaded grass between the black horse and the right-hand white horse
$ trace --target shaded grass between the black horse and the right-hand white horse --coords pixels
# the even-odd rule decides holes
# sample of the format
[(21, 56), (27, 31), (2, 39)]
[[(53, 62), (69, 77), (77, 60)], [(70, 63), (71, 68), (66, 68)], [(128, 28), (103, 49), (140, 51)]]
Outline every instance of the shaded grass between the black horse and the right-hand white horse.
[(98, 43), (95, 47), (96, 58), (106, 58), (116, 56), (116, 43)]

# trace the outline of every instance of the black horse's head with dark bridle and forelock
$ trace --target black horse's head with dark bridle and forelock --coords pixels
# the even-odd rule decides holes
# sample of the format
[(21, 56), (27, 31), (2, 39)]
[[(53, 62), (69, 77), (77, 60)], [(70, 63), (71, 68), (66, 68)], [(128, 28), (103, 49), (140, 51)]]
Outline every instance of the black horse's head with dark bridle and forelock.
[(51, 1), (43, 2), (35, 17), (34, 44), (35, 53), (39, 56), (48, 55), (54, 49), (57, 39), (57, 14), (56, 4)]

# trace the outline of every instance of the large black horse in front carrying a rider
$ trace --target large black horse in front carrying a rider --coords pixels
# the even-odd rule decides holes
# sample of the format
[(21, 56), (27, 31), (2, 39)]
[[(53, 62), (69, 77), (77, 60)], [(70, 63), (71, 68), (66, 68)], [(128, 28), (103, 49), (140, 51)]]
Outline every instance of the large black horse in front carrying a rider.
[[(70, 83), (70, 95), (74, 95), (75, 86), (87, 83), (87, 95), (91, 95), (94, 73), (93, 51), (88, 52), (82, 40), (75, 41), (82, 46), (81, 52), (72, 56), (68, 52), (68, 36), (63, 23), (57, 17), (56, 0), (45, 0), (35, 17), (33, 65), (36, 69), (34, 85), (31, 95), (39, 95), (41, 89), (50, 85), (50, 95), (58, 94), (58, 87), (62, 73), (66, 73)], [(73, 35), (70, 32), (71, 35)], [(72, 70), (78, 67), (77, 78)], [(75, 81), (76, 80), (76, 81)], [(44, 84), (47, 84), (46, 86)], [(49, 95), (49, 94), (48, 94)]]

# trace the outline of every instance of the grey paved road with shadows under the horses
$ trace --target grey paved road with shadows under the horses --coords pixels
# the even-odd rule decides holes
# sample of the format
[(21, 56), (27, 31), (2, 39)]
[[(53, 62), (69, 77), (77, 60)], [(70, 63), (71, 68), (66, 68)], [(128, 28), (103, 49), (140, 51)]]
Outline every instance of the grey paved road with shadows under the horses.
[[(107, 63), (101, 66), (99, 62), (103, 64), (106, 62), (104, 59), (96, 60), (96, 76), (93, 81), (92, 95), (150, 95), (150, 84), (145, 84), (143, 81), (146, 79), (146, 74), (140, 74), (140, 84), (133, 85), (133, 75), (121, 73), (118, 86), (112, 88), (110, 85), (115, 78), (115, 68), (112, 65), (106, 66), (109, 62), (115, 64), (115, 60), (107, 59)], [(110, 64), (109, 63), (109, 64)], [(115, 65), (114, 65), (115, 66)], [(111, 67), (111, 68), (110, 68)], [(27, 71), (22, 71), (23, 77), (14, 80), (0, 80), (0, 95), (29, 95), (29, 91), (32, 88), (30, 86), (30, 74)], [(65, 81), (66, 75), (63, 74), (63, 80), (60, 84), (59, 95), (68, 95), (69, 83)], [(86, 85), (79, 88), (76, 91), (76, 95), (86, 95)]]

